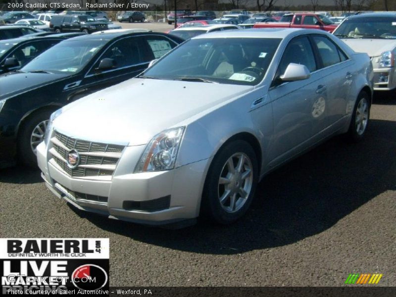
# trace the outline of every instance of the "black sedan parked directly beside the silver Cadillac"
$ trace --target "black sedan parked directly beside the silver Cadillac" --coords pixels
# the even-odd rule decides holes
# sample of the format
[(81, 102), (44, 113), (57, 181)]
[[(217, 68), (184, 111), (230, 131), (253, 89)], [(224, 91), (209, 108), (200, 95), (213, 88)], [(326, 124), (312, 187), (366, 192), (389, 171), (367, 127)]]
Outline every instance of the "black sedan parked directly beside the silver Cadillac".
[(1, 75), (0, 167), (17, 159), (35, 165), (54, 110), (135, 77), (182, 42), (164, 33), (104, 31), (61, 41), (19, 71)]

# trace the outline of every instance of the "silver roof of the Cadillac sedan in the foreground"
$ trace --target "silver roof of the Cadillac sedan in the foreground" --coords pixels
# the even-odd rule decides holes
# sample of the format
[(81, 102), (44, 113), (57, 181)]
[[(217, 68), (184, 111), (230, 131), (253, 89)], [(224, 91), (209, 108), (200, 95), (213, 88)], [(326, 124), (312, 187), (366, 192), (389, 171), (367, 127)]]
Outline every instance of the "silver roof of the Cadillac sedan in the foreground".
[(244, 30), (226, 30), (207, 33), (193, 37), (198, 38), (281, 38), (297, 36), (298, 33), (326, 34), (325, 31), (317, 29), (295, 29), (295, 28), (254, 28)]

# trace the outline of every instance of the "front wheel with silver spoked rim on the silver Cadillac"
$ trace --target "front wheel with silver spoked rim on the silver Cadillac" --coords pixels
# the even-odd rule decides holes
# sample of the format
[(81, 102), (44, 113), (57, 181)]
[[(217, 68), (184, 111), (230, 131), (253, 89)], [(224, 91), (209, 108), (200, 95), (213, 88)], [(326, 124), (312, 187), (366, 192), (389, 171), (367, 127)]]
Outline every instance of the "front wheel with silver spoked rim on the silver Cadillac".
[[(234, 173), (232, 168), (236, 169)], [(244, 173), (247, 174), (245, 177)], [(257, 175), (257, 158), (247, 142), (237, 140), (221, 148), (206, 176), (200, 214), (223, 225), (241, 218), (253, 199)]]

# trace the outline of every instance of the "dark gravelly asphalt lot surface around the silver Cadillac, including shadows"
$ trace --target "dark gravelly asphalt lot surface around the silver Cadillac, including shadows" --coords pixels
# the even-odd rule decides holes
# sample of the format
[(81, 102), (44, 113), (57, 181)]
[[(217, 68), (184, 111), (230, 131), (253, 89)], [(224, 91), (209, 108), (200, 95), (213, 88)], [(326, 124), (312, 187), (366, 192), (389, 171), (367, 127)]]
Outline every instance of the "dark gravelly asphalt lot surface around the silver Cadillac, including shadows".
[(396, 284), (396, 99), (377, 96), (366, 139), (337, 137), (268, 175), (228, 227), (149, 228), (55, 198), (38, 170), (0, 171), (0, 235), (110, 238), (111, 286)]

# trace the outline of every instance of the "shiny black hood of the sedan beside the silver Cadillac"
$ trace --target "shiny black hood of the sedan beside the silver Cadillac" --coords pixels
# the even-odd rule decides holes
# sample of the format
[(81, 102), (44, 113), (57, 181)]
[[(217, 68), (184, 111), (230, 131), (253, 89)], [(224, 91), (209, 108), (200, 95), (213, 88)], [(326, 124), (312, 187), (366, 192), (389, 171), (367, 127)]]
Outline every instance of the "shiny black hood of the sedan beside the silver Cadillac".
[(9, 72), (0, 75), (0, 100), (68, 77), (67, 74)]

